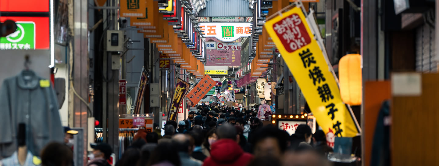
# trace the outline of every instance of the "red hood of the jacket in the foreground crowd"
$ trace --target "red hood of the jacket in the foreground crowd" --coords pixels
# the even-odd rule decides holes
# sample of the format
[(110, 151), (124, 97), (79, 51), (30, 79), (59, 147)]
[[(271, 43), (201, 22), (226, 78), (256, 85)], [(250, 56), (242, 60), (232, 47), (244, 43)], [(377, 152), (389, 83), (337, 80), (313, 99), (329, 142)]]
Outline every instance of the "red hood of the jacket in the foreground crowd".
[(231, 139), (216, 141), (212, 144), (211, 149), (210, 156), (217, 163), (234, 162), (244, 153), (239, 144)]

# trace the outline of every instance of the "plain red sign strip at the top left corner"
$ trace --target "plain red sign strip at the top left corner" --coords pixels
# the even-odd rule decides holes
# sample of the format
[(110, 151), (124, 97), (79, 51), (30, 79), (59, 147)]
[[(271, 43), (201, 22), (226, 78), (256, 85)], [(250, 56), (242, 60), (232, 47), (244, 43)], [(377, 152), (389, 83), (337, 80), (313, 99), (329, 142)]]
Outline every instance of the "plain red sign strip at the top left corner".
[(0, 11), (49, 12), (49, 0), (0, 0)]

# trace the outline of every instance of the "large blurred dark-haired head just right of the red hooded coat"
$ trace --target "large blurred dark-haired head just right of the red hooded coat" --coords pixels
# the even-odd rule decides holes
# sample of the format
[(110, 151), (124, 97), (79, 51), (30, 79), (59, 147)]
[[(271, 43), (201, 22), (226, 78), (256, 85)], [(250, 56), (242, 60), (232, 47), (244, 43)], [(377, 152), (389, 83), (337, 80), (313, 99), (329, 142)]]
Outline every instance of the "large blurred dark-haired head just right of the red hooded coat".
[(287, 148), (288, 135), (272, 125), (258, 130), (254, 138), (253, 152), (257, 156), (281, 156)]

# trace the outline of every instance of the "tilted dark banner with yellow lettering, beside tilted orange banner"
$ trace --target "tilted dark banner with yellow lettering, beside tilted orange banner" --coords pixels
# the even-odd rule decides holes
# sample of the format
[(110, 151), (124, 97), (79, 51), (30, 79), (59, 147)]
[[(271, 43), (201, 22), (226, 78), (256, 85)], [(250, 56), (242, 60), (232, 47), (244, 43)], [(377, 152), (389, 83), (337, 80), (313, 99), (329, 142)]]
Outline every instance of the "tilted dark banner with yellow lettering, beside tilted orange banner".
[(180, 103), (186, 96), (187, 90), (189, 90), (189, 83), (185, 82), (183, 79), (178, 79), (175, 86), (174, 96), (172, 97), (171, 105), (168, 110), (168, 120), (175, 121), (177, 119)]

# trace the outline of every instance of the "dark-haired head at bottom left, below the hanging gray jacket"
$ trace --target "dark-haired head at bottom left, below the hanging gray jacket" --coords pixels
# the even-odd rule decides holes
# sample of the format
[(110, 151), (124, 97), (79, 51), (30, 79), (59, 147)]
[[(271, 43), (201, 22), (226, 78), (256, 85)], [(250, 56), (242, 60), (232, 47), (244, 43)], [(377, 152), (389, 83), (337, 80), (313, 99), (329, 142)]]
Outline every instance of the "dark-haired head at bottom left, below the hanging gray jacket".
[(40, 153), (42, 166), (72, 166), (73, 152), (64, 144), (50, 142)]

